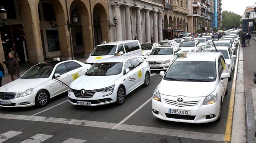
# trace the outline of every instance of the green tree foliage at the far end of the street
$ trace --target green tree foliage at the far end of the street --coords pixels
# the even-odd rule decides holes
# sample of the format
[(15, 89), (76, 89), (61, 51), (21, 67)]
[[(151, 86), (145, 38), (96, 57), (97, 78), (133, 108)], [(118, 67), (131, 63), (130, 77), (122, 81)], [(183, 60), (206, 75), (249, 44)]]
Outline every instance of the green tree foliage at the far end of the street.
[(222, 25), (226, 29), (232, 29), (232, 28), (237, 28), (240, 27), (240, 19), (242, 16), (234, 13), (234, 12), (228, 12), (228, 11), (223, 11), (222, 14), (224, 15), (222, 19)]

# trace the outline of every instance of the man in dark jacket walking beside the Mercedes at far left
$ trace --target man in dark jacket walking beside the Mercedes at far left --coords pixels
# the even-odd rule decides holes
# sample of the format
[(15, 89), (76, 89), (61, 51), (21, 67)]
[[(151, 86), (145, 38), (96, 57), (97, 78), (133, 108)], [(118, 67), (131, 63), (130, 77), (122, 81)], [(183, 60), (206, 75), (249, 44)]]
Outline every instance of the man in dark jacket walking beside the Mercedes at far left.
[(8, 60), (4, 61), (4, 64), (8, 65), (9, 72), (12, 78), (12, 81), (18, 79), (19, 77), (17, 76), (17, 71), (19, 69), (19, 64), (18, 61), (13, 57), (12, 53), (8, 54)]

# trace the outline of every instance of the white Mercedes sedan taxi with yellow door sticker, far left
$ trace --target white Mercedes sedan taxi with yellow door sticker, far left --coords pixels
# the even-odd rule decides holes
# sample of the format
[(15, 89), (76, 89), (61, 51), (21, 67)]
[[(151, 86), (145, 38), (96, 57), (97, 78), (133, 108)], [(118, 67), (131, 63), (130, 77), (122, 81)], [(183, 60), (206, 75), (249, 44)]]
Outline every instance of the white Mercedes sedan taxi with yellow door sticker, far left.
[(45, 106), (50, 98), (68, 90), (72, 81), (91, 67), (76, 60), (42, 62), (19, 79), (0, 87), (0, 106)]

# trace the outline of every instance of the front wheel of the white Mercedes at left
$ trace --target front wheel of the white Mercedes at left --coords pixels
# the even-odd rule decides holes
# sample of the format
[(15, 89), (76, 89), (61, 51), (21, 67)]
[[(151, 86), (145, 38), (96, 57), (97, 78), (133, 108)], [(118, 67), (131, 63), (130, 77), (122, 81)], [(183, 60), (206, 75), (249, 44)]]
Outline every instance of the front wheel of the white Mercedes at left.
[(49, 100), (49, 93), (46, 90), (40, 90), (35, 97), (35, 104), (37, 107), (44, 107), (48, 104)]

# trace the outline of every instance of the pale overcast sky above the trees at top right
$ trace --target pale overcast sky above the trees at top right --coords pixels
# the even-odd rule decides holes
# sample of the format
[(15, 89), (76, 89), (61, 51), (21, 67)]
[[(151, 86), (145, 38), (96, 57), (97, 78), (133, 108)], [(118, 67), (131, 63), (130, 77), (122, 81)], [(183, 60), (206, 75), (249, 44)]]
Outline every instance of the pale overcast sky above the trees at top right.
[(233, 11), (236, 14), (243, 15), (245, 7), (254, 5), (256, 0), (222, 0), (222, 11)]

